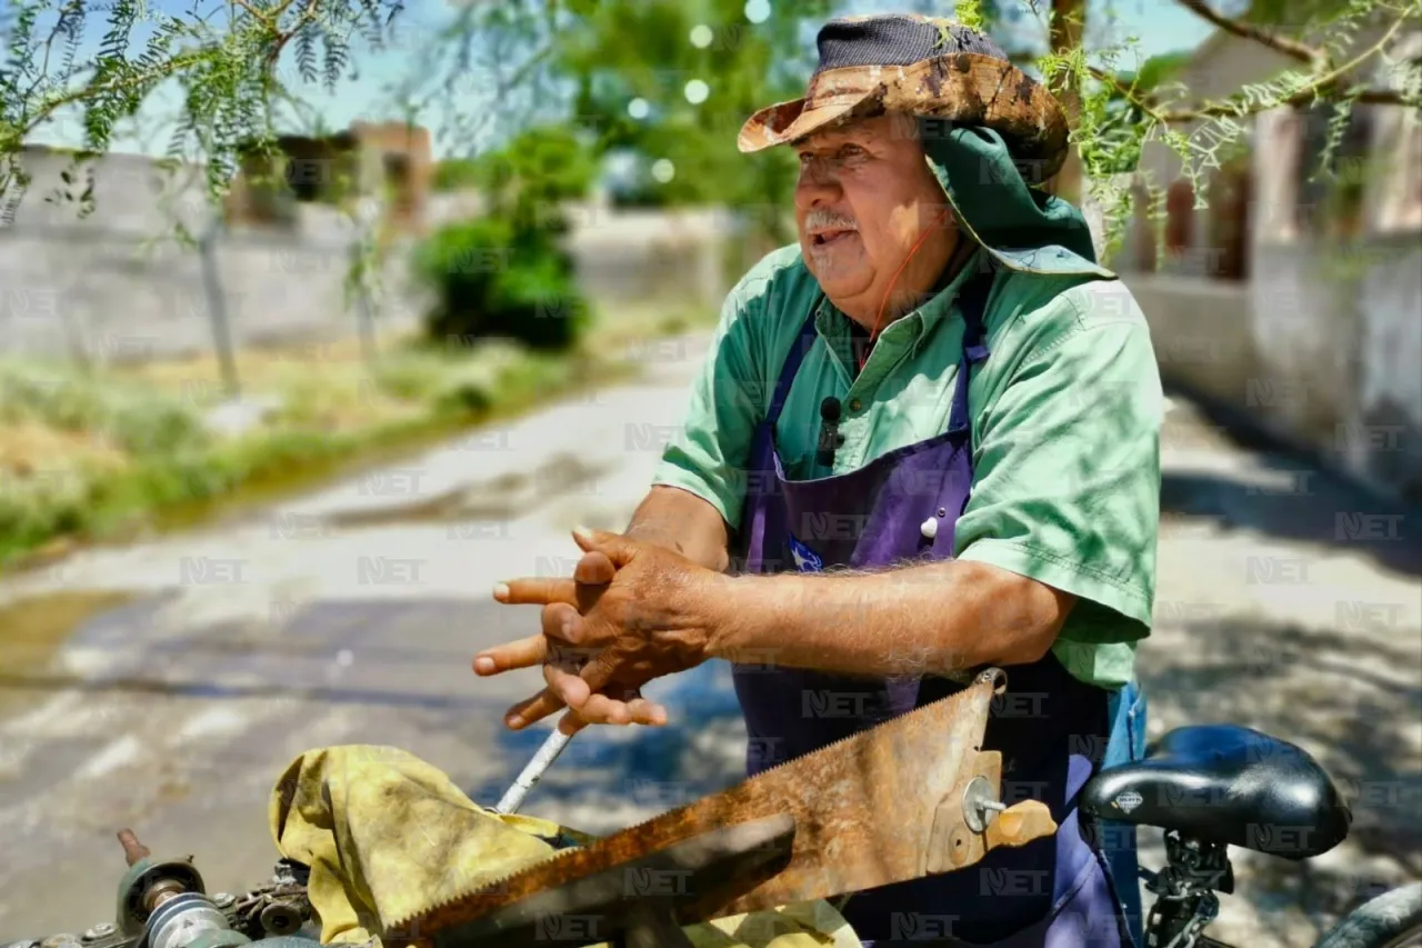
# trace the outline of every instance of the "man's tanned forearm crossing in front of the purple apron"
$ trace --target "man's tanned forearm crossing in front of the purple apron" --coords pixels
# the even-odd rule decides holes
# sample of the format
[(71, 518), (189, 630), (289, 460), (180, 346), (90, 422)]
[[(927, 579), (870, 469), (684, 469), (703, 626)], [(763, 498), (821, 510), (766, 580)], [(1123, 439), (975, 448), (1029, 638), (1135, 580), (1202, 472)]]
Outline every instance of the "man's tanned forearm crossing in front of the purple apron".
[(984, 564), (724, 578), (712, 658), (826, 672), (943, 675), (1047, 653), (1074, 598)]

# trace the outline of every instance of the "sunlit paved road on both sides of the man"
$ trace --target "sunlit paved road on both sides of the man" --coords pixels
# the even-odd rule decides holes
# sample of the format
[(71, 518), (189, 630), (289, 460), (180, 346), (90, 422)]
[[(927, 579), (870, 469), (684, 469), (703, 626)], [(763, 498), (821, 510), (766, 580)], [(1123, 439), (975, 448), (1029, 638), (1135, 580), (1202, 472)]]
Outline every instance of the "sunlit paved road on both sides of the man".
[[(565, 574), (577, 522), (626, 522), (704, 339), (648, 346), (656, 370), (638, 386), (0, 582), (0, 939), (108, 920), (122, 826), (155, 853), (193, 853), (213, 890), (264, 878), (267, 793), (310, 747), (395, 744), (492, 803), (542, 734), (498, 726), (538, 679), (468, 670), (536, 619), (488, 591)], [(1165, 467), (1158, 628), (1142, 649), (1152, 732), (1256, 726), (1358, 794), (1355, 838), (1307, 871), (1236, 854), (1223, 934), (1310, 945), (1340, 902), (1422, 875), (1415, 521), (1236, 444), (1186, 401), (1167, 417)], [(1337, 542), (1340, 511), (1378, 539)], [(744, 732), (725, 668), (660, 685), (694, 729), (583, 734), (529, 810), (603, 831), (732, 781)]]

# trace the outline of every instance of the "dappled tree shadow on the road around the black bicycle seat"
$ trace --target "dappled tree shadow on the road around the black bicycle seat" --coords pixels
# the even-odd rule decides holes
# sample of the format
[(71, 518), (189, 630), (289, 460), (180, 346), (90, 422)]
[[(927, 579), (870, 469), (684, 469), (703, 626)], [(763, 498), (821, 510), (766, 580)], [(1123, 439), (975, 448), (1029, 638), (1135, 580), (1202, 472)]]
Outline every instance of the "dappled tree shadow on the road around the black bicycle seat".
[(1334, 777), (1354, 814), (1335, 854), (1236, 861), (1234, 898), (1266, 912), (1307, 907), (1320, 934), (1378, 891), (1422, 878), (1422, 631), (1395, 632), (1392, 642), (1358, 641), (1241, 616), (1185, 623), (1172, 638), (1189, 648), (1140, 652), (1152, 736), (1243, 725), (1297, 743)]

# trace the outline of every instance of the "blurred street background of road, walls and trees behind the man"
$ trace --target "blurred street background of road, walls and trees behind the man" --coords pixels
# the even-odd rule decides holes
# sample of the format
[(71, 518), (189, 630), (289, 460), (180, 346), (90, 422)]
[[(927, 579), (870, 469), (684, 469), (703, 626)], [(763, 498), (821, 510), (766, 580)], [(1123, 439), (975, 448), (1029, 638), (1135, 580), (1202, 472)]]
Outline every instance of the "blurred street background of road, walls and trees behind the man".
[[(1212, 929), (1311, 945), (1422, 877), (1416, 0), (17, 0), (0, 13), (0, 938), (109, 918), (114, 833), (264, 880), (303, 750), (394, 744), (492, 804), (546, 732), (476, 680), (496, 606), (621, 530), (735, 280), (793, 241), (830, 16), (988, 30), (1074, 125), (1052, 186), (1150, 323), (1169, 410), (1150, 733), (1233, 722), (1345, 789)], [(508, 678), (509, 680), (503, 680)], [(573, 742), (589, 831), (735, 781), (722, 663)], [(1159, 834), (1145, 831), (1159, 867)], [(63, 881), (57, 881), (63, 880)]]

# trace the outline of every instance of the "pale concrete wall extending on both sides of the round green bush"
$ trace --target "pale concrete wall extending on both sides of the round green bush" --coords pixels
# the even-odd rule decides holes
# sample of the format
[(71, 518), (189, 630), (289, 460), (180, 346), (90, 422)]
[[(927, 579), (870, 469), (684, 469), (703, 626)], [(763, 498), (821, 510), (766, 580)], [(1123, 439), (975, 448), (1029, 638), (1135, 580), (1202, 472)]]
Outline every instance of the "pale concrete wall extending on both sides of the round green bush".
[[(95, 211), (78, 219), (74, 205), (48, 204), (68, 165), (63, 154), (24, 157), (33, 177), (11, 226), (0, 226), (0, 354), (84, 359), (97, 363), (210, 352), (215, 299), (237, 346), (347, 336), (358, 310), (347, 306), (344, 279), (358, 233), (340, 212), (300, 204), (293, 226), (232, 225), (213, 241), (210, 292), (203, 258), (154, 235), (181, 221), (195, 235), (215, 219), (193, 169), (158, 172), (141, 155), (108, 155), (92, 174)], [(429, 225), (476, 212), (469, 195), (441, 196)], [(718, 212), (675, 215), (570, 208), (570, 245), (579, 276), (596, 305), (636, 302), (720, 307), (734, 260), (734, 222)], [(387, 292), (373, 302), (383, 327), (412, 326), (429, 297), (410, 273), (405, 239), (384, 273)], [(728, 275), (728, 270), (732, 270)]]

